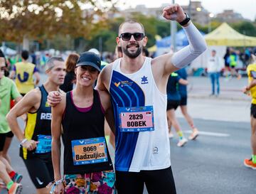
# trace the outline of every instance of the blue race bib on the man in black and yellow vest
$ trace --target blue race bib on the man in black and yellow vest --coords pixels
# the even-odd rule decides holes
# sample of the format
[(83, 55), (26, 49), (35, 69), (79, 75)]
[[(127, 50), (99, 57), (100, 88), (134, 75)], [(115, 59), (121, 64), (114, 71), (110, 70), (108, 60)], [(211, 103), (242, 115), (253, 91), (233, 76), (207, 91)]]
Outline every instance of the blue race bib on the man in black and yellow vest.
[(38, 135), (38, 141), (36, 153), (49, 153), (51, 151), (51, 136)]

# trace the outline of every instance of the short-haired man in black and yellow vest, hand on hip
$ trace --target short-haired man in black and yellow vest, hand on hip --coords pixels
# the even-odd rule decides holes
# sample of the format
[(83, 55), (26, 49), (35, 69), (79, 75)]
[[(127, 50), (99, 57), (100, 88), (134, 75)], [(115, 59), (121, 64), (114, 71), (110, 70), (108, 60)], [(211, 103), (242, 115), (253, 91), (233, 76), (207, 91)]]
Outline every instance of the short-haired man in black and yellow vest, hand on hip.
[[(6, 119), (11, 131), (20, 141), (20, 156), (38, 194), (48, 194), (46, 185), (54, 179), (51, 159), (51, 107), (48, 92), (59, 90), (64, 82), (65, 64), (62, 58), (53, 57), (46, 63), (48, 79), (43, 85), (28, 92), (14, 106)], [(17, 118), (28, 113), (25, 131), (18, 126)]]

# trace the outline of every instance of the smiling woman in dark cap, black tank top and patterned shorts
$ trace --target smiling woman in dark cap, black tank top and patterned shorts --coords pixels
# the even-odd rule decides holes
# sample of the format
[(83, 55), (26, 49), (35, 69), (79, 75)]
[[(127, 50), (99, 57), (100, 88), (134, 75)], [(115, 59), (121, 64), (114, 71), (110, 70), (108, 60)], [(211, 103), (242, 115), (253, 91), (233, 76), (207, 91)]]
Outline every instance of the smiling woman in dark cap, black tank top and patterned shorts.
[[(55, 193), (69, 194), (74, 190), (101, 193), (102, 189), (115, 193), (114, 170), (104, 131), (105, 117), (110, 126), (114, 125), (110, 95), (94, 89), (100, 64), (95, 53), (82, 53), (76, 63), (74, 90), (62, 95), (60, 103), (53, 107), (55, 186), (52, 190)], [(64, 176), (60, 174), (60, 126), (63, 126)], [(111, 181), (107, 181), (110, 178)]]

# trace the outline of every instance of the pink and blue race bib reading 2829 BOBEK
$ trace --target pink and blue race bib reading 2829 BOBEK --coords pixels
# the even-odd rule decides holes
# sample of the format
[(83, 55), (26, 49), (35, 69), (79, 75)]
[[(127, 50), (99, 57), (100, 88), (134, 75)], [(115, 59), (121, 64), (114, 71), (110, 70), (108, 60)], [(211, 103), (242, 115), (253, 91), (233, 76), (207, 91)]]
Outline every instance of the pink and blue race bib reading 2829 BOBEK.
[(154, 131), (153, 107), (119, 107), (119, 123), (122, 132)]

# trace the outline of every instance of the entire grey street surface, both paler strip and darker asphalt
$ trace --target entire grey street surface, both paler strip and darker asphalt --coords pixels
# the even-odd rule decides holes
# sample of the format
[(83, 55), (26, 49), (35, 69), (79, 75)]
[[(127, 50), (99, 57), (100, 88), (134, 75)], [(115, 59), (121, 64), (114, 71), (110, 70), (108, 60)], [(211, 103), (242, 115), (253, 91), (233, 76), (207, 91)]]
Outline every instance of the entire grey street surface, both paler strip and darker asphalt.
[[(202, 134), (183, 148), (176, 146), (176, 136), (170, 141), (177, 193), (255, 194), (256, 171), (242, 164), (243, 158), (250, 156), (250, 101), (208, 98), (207, 91), (203, 94), (203, 97), (193, 96), (188, 101), (188, 110)], [(180, 112), (177, 117), (188, 136), (188, 124)], [(9, 153), (14, 168), (24, 176), (23, 193), (36, 193), (23, 161), (18, 157), (16, 139)]]

